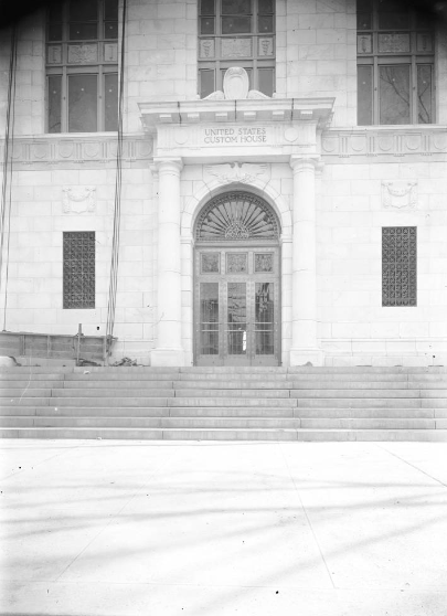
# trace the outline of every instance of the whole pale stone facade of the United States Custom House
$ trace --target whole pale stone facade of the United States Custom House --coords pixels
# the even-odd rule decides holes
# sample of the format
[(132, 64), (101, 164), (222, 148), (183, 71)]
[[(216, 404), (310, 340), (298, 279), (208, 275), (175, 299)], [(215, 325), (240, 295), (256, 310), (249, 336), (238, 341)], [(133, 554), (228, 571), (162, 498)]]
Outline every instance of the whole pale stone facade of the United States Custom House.
[[(124, 21), (123, 1), (62, 6), (17, 30), (3, 329), (106, 333), (123, 75), (115, 358), (446, 364), (440, 18), (380, 0), (127, 0)], [(1, 132), (10, 54), (2, 36)]]

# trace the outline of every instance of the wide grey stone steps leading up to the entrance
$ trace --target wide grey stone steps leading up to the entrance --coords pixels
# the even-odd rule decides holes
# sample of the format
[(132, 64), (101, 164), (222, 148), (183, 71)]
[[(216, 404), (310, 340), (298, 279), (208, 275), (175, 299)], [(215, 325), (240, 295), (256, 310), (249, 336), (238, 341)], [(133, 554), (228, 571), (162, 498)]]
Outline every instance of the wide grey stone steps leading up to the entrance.
[(8, 368), (0, 436), (447, 440), (447, 368)]

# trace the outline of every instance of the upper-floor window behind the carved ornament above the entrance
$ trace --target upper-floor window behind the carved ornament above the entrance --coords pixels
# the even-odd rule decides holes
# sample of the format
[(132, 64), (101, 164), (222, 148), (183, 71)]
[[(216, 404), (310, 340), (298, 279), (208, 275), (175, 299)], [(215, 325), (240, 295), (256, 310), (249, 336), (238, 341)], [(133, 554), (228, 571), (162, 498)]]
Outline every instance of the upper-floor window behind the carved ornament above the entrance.
[(248, 73), (249, 88), (275, 92), (275, 0), (200, 0), (199, 93), (223, 89), (231, 66)]

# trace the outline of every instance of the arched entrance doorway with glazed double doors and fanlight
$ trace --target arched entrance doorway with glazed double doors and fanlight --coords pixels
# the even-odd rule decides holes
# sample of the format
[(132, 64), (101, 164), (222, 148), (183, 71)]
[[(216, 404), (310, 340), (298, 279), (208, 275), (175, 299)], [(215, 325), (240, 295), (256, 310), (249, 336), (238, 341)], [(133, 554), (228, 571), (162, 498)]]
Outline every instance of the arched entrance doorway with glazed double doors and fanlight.
[(194, 363), (280, 362), (279, 223), (245, 191), (212, 199), (195, 225)]

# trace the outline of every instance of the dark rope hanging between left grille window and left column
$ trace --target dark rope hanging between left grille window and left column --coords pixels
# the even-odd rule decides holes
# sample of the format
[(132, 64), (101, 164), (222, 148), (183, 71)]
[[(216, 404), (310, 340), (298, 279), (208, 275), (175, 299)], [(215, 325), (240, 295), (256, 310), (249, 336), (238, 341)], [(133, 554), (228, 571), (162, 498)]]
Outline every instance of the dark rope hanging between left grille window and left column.
[(115, 326), (116, 291), (118, 284), (119, 263), (119, 229), (121, 219), (121, 171), (123, 171), (123, 110), (124, 110), (124, 73), (125, 73), (125, 34), (126, 34), (126, 9), (127, 0), (123, 3), (121, 25), (121, 66), (119, 72), (119, 97), (118, 97), (118, 141), (116, 153), (116, 181), (115, 181), (115, 208), (114, 208), (114, 236), (111, 241), (110, 279), (108, 288), (107, 323), (106, 323), (106, 349), (111, 344)]

